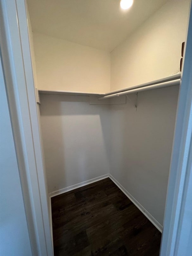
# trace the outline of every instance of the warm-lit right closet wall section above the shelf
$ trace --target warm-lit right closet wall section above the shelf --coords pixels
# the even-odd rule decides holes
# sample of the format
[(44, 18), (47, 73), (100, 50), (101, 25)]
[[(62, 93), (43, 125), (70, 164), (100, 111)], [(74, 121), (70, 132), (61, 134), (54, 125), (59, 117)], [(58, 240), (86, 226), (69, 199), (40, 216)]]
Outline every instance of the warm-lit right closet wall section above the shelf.
[(170, 0), (111, 52), (111, 91), (179, 72), (190, 0)]

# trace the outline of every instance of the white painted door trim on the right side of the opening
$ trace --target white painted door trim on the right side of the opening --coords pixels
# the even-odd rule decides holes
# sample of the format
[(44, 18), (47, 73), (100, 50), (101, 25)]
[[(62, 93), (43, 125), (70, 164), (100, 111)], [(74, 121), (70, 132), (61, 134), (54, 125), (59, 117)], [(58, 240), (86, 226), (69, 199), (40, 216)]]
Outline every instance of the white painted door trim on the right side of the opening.
[[(185, 40), (184, 65), (177, 104), (161, 256), (192, 255), (192, 8)], [(190, 231), (189, 231), (190, 230)], [(190, 252), (189, 252), (190, 251)]]

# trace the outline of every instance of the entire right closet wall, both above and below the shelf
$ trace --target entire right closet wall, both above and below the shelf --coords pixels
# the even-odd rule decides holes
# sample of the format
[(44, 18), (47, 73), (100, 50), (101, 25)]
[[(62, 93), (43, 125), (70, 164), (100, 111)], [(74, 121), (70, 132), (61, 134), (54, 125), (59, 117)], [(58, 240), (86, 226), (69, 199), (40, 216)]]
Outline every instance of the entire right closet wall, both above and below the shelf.
[[(189, 2), (170, 0), (111, 53), (111, 90), (179, 71)], [(138, 93), (137, 111), (110, 107), (110, 173), (162, 226), (178, 90)]]

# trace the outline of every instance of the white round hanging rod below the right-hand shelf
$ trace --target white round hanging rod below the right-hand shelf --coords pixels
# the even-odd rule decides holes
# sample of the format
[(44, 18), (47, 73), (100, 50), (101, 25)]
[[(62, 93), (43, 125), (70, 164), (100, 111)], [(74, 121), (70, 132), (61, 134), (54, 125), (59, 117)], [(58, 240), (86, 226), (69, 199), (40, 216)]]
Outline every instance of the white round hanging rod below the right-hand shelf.
[(148, 86), (146, 85), (145, 87), (140, 87), (140, 88), (133, 89), (133, 90), (130, 89), (130, 90), (127, 90), (127, 91), (114, 93), (114, 94), (111, 94), (111, 95), (100, 97), (100, 98), (98, 98), (98, 100), (113, 98), (113, 97), (122, 96), (122, 95), (130, 94), (130, 93), (134, 93), (134, 92), (139, 92), (139, 91), (147, 91), (147, 90), (152, 90), (152, 89), (169, 87), (169, 86), (178, 85), (178, 84), (180, 84), (180, 79), (171, 80), (171, 81), (167, 81), (167, 82), (163, 82), (163, 83), (159, 83), (159, 84), (148, 85)]

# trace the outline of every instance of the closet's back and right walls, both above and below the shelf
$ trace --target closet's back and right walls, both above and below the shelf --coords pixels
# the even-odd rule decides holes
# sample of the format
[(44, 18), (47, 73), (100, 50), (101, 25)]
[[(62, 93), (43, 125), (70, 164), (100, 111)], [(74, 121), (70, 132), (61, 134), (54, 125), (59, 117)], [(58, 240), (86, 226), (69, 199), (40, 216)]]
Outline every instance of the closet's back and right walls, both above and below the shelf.
[[(111, 90), (179, 71), (188, 8), (189, 0), (169, 1), (111, 53)], [(106, 52), (37, 33), (34, 48), (40, 89), (109, 90)], [(49, 192), (108, 173), (110, 152), (110, 173), (163, 225), (177, 98), (178, 86), (142, 92), (135, 112), (130, 102), (42, 95)]]

